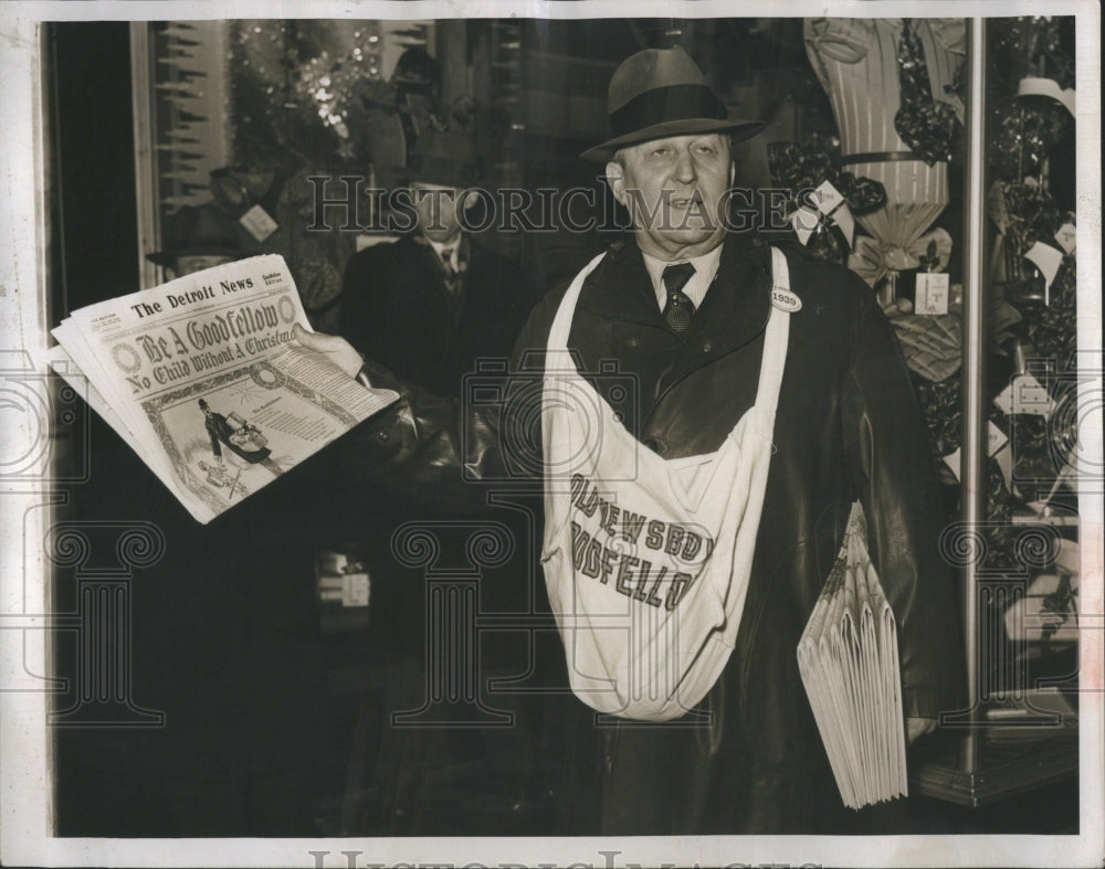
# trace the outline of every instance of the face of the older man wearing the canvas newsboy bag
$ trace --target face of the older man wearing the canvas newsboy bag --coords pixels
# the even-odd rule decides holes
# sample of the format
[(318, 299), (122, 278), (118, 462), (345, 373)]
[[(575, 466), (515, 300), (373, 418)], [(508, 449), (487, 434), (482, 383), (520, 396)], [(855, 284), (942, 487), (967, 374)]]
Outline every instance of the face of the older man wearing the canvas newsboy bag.
[(607, 181), (630, 213), (641, 250), (661, 259), (697, 256), (725, 235), (725, 191), (733, 183), (729, 140), (672, 136), (622, 151)]

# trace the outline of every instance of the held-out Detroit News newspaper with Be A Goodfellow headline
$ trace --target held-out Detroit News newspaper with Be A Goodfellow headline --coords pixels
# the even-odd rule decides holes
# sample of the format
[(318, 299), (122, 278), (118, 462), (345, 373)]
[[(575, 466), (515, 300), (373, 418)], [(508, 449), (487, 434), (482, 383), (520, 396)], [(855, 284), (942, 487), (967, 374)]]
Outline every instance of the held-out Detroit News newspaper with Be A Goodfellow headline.
[(311, 329), (284, 258), (256, 256), (73, 311), (50, 359), (208, 522), (399, 399), (295, 324)]

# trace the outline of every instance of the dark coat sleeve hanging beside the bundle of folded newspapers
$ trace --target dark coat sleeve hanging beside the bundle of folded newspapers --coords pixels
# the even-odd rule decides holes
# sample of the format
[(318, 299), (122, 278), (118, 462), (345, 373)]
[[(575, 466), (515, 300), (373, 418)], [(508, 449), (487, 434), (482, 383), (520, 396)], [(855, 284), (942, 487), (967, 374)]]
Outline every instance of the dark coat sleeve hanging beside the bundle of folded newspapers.
[(893, 327), (862, 289), (842, 396), (844, 454), (897, 621), (905, 714), (936, 718), (964, 704), (958, 583), (940, 554), (944, 500), (905, 360)]

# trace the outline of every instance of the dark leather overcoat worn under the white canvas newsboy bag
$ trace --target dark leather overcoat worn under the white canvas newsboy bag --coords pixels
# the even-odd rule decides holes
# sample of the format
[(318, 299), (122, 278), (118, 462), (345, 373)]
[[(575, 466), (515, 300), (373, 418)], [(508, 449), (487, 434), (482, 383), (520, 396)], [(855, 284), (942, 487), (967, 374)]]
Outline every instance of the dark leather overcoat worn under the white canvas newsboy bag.
[[(798, 247), (786, 253), (801, 309), (790, 318), (776, 451), (737, 645), (704, 701), (712, 723), (596, 730), (600, 789), (591, 796), (601, 822), (581, 831), (845, 831), (794, 649), (855, 499), (897, 618), (905, 714), (935, 718), (961, 704), (959, 604), (938, 542), (944, 506), (892, 327), (853, 273)], [(728, 237), (717, 277), (680, 337), (661, 317), (636, 245), (615, 244), (583, 286), (569, 348), (598, 391), (622, 405), (644, 448), (665, 458), (711, 453), (755, 400), (770, 286), (769, 247)], [(515, 373), (504, 403), (457, 407), (407, 390), (406, 401), (357, 430), (361, 468), (463, 497), (461, 476), (502, 478), (534, 467), (532, 456), (516, 453), (536, 438), (503, 435), (532, 431), (519, 420), (535, 417), (540, 354), (526, 351), (545, 347), (561, 297), (551, 294), (534, 309), (516, 347), (517, 364), (525, 368), (525, 359), (534, 370), (528, 379)], [(371, 367), (370, 374), (388, 380)], [(625, 374), (635, 384), (629, 404), (620, 392)]]

